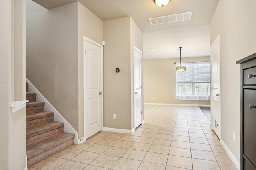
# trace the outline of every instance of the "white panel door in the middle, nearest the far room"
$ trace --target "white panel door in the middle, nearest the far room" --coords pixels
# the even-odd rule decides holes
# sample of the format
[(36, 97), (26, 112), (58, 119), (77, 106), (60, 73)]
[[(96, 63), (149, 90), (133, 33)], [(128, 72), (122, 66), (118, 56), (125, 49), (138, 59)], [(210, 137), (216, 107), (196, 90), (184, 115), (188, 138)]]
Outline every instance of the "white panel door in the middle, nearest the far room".
[(134, 47), (134, 129), (142, 123), (142, 52)]

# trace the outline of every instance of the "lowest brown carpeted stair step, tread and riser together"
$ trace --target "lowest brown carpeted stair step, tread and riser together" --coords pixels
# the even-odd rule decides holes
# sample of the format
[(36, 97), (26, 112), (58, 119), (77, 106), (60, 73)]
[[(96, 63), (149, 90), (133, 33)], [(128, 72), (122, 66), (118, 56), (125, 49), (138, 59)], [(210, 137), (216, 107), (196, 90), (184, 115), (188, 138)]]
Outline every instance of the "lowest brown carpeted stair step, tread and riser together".
[(59, 133), (52, 137), (42, 139), (35, 143), (26, 145), (28, 167), (56, 154), (74, 144), (75, 135), (72, 133)]

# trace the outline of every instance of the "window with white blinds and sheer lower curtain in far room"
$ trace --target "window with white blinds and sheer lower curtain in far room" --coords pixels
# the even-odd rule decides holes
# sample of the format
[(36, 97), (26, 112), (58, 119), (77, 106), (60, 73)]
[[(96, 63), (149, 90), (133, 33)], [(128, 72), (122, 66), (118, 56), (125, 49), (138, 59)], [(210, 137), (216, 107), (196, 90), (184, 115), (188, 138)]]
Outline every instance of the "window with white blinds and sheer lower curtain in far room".
[(210, 100), (210, 61), (181, 63), (181, 65), (186, 66), (186, 71), (176, 72), (175, 99)]

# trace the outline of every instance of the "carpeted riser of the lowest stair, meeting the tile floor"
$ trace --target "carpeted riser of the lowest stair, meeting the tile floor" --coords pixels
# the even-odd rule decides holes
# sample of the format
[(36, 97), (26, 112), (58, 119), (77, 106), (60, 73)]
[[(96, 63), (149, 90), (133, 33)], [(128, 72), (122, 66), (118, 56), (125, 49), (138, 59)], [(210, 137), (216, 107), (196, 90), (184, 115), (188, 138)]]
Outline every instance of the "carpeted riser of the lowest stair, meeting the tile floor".
[(74, 144), (74, 139), (70, 139), (70, 140), (58, 145), (57, 147), (49, 148), (49, 150), (47, 150), (45, 152), (42, 152), (32, 158), (28, 158), (28, 167), (60, 152), (61, 150), (65, 149), (73, 144)]

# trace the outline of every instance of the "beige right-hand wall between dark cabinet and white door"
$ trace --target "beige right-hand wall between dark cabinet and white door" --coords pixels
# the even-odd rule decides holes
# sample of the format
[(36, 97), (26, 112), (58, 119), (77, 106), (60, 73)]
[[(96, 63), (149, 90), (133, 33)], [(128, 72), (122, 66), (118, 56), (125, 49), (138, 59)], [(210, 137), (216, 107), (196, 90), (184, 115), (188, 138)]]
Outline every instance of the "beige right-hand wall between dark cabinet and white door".
[(222, 140), (239, 162), (240, 65), (236, 61), (256, 52), (255, 6), (255, 0), (220, 0), (210, 23), (210, 43), (220, 33)]

